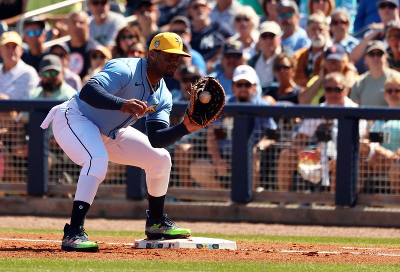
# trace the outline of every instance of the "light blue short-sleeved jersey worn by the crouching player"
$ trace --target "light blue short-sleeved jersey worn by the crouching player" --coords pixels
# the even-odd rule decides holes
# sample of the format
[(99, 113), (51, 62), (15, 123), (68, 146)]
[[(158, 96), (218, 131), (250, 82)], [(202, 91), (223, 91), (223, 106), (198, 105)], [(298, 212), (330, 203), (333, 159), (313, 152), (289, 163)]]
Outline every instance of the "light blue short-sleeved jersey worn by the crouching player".
[[(93, 79), (112, 95), (147, 101), (147, 111), (140, 117), (146, 116), (146, 122), (157, 120), (169, 126), (171, 93), (161, 78), (158, 88), (151, 95), (151, 87), (146, 79), (146, 59), (132, 57), (111, 59), (90, 80)], [(81, 100), (79, 93), (75, 94), (74, 99), (82, 114), (91, 120), (102, 134), (113, 139), (118, 129), (127, 127), (137, 120), (119, 110), (95, 108)]]

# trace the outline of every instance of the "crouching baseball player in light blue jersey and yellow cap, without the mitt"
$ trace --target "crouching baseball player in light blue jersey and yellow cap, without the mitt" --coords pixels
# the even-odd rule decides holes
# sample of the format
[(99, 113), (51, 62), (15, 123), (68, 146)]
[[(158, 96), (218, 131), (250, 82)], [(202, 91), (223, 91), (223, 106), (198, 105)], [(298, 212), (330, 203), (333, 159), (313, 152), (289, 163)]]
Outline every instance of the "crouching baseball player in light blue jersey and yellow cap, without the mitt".
[[(181, 38), (159, 33), (147, 58), (116, 58), (92, 76), (70, 100), (53, 107), (41, 127), (52, 121), (54, 137), (69, 158), (82, 166), (70, 224), (64, 226), (61, 248), (96, 251), (98, 244), (84, 232), (85, 216), (104, 180), (108, 161), (141, 167), (146, 173), (148, 238), (178, 238), (190, 229), (177, 226), (164, 213), (171, 158), (164, 146), (197, 130), (187, 116), (169, 127), (171, 93), (162, 77), (172, 77), (182, 50)], [(130, 125), (146, 117), (147, 136)]]

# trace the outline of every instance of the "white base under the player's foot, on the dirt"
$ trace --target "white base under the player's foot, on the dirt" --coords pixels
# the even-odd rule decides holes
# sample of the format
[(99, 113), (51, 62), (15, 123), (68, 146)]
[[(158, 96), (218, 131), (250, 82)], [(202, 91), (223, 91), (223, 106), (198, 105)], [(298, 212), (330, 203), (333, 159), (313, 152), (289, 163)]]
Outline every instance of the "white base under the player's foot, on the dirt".
[(133, 248), (201, 248), (201, 249), (236, 249), (236, 242), (217, 238), (188, 237), (182, 239), (137, 239)]

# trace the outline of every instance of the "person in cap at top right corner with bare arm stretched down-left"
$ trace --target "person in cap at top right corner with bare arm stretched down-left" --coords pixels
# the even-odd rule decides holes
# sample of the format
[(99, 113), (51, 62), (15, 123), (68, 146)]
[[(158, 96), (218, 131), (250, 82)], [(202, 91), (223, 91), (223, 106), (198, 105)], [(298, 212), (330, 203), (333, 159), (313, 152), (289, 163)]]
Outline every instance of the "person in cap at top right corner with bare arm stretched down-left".
[[(376, 6), (381, 22), (372, 23), (366, 26), (367, 30), (363, 34), (363, 38), (360, 40), (359, 44), (354, 47), (354, 49), (349, 54), (349, 59), (352, 62), (357, 62), (363, 57), (363, 52), (369, 41), (373, 39), (384, 40), (385, 37), (385, 27), (392, 20), (400, 21), (399, 16), (399, 3), (398, 0), (378, 0)], [(358, 71), (363, 71), (362, 67), (358, 67)]]

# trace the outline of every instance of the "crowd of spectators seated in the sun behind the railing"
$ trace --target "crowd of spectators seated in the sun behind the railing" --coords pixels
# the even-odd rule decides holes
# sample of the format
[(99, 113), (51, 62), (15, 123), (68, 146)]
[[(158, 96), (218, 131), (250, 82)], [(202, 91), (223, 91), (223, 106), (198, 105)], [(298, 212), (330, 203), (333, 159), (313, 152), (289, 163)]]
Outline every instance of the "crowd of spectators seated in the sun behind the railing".
[[(128, 0), (119, 12), (111, 10), (116, 1), (88, 0), (56, 14), (27, 18), (18, 34), (15, 22), (21, 14), (44, 3), (34, 2), (0, 3), (0, 99), (71, 96), (107, 60), (145, 57), (151, 38), (171, 31), (182, 37), (183, 49), (192, 55), (180, 60), (173, 78), (165, 79), (175, 101), (186, 100), (190, 83), (209, 74), (219, 79), (228, 102), (398, 106), (398, 0)], [(127, 22), (130, 15), (134, 20)], [(70, 38), (45, 46), (63, 35)], [(235, 80), (240, 71), (247, 77)], [(291, 146), (276, 158), (280, 189), (290, 189), (297, 149), (312, 138), (320, 122), (306, 120), (306, 128), (301, 122)], [(400, 129), (393, 128), (396, 123), (389, 122), (388, 133)], [(371, 124), (368, 132), (377, 124), (381, 122)], [(209, 147), (216, 144), (210, 131), (209, 158), (218, 164), (219, 149)], [(190, 140), (176, 145), (183, 150), (176, 156), (188, 159), (183, 143)], [(372, 146), (380, 150), (376, 154), (381, 161), (398, 162), (399, 143), (376, 147), (364, 136), (361, 153), (367, 156)], [(376, 168), (373, 162), (376, 159), (367, 167)], [(398, 168), (389, 167), (392, 177), (398, 176), (393, 172)], [(201, 177), (197, 179), (201, 183)], [(334, 177), (331, 180), (334, 184)], [(400, 191), (396, 186), (393, 191)]]

